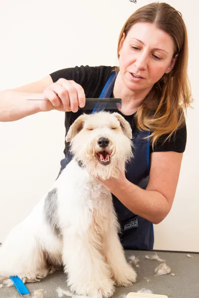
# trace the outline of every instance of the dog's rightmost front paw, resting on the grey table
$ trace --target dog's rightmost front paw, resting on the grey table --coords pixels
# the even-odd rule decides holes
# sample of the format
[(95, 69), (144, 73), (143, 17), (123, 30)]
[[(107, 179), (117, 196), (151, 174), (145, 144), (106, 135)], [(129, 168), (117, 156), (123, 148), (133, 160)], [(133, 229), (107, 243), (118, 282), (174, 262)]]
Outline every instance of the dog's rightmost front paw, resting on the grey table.
[(114, 274), (114, 280), (117, 287), (129, 287), (136, 282), (137, 273), (135, 270), (127, 266), (125, 270), (121, 270), (117, 274)]

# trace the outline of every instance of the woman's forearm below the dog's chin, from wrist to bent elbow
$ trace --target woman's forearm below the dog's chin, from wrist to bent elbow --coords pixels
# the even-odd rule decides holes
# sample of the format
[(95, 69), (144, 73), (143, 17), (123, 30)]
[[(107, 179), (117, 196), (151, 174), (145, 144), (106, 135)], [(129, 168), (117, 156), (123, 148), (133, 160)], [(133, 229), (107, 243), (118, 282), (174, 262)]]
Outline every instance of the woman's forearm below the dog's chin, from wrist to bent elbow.
[(170, 211), (166, 198), (157, 191), (143, 190), (128, 180), (110, 190), (134, 214), (159, 224)]

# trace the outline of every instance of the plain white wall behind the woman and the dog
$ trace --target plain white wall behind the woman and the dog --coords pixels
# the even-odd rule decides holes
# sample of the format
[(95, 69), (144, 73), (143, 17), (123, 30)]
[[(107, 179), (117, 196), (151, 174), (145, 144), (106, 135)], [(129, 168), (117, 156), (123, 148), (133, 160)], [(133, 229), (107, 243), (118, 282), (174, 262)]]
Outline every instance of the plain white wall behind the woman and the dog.
[[(150, 2), (1, 0), (0, 90), (76, 65), (117, 65), (124, 22)], [(187, 148), (173, 208), (154, 226), (154, 248), (199, 251), (199, 2), (167, 2), (182, 12), (187, 25), (195, 102), (187, 114)], [(57, 111), (0, 123), (0, 242), (53, 184), (64, 157), (64, 137), (64, 113)]]

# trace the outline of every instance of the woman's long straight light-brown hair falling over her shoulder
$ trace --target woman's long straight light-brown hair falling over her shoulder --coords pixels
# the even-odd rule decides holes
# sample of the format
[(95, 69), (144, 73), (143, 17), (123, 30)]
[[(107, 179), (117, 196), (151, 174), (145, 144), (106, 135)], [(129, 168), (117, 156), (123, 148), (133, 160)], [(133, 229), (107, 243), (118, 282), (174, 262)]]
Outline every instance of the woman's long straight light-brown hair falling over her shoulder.
[[(173, 39), (178, 54), (173, 70), (164, 74), (156, 82), (136, 113), (136, 123), (140, 130), (150, 130), (152, 145), (166, 135), (166, 140), (176, 130), (185, 125), (184, 110), (192, 102), (191, 86), (188, 78), (188, 36), (182, 14), (167, 3), (151, 3), (136, 10), (124, 24), (118, 41), (119, 45), (137, 22), (149, 22), (167, 32)], [(165, 140), (165, 141), (166, 141)]]

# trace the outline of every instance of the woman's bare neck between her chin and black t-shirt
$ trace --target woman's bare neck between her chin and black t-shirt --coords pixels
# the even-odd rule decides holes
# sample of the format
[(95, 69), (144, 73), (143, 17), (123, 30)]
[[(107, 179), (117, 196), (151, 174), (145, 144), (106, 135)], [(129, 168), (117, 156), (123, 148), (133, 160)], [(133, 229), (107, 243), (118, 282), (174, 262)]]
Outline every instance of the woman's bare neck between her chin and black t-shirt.
[(128, 89), (124, 85), (120, 73), (118, 73), (113, 88), (113, 96), (115, 98), (121, 98), (122, 107), (119, 110), (122, 114), (132, 115), (135, 113), (142, 104), (148, 92), (149, 91), (145, 89), (141, 91), (132, 91)]

